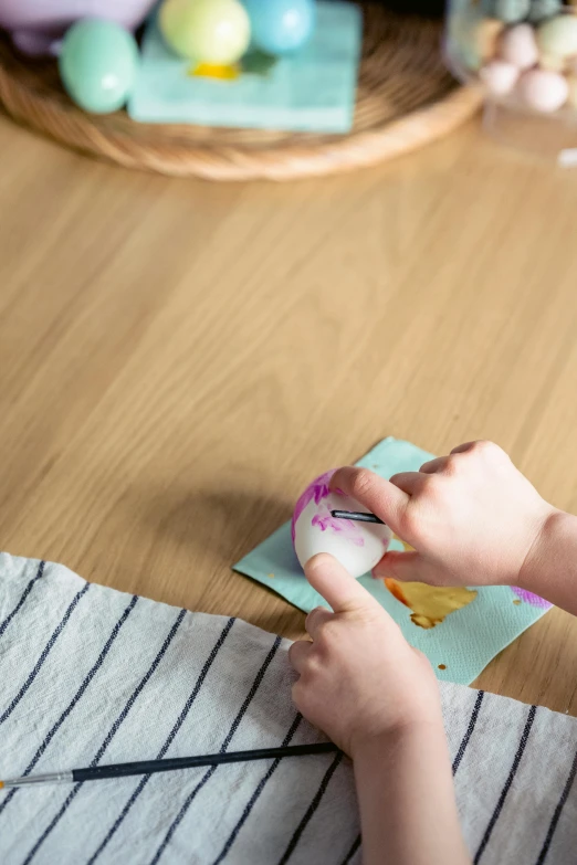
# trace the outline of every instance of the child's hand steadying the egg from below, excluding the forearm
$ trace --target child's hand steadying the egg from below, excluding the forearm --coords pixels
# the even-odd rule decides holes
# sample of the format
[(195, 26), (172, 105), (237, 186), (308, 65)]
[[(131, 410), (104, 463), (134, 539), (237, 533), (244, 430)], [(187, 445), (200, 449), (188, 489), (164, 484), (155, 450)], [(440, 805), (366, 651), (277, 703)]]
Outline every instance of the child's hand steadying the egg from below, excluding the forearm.
[(429, 662), (380, 604), (332, 556), (315, 556), (305, 572), (334, 610), (313, 610), (313, 642), (293, 643), (288, 653), (300, 673), (293, 698), (305, 718), (352, 757), (388, 734), (440, 721)]

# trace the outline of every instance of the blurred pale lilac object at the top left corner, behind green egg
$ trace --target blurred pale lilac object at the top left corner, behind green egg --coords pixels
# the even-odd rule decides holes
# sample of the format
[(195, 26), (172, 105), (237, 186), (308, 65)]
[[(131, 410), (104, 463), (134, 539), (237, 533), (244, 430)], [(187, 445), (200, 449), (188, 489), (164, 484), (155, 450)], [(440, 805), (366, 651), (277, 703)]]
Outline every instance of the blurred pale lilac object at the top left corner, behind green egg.
[(155, 0), (0, 0), (0, 27), (27, 54), (55, 54), (67, 28), (82, 18), (104, 18), (127, 30), (145, 20)]

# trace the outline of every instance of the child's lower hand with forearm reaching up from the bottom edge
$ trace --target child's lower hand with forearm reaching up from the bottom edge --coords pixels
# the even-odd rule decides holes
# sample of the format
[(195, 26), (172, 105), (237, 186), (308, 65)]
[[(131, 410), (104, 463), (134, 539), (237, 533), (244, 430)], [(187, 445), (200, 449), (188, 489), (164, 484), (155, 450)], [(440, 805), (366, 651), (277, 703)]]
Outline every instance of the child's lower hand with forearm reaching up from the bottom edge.
[(313, 610), (313, 642), (291, 646), (293, 698), (354, 760), (363, 862), (470, 865), (429, 662), (332, 556), (305, 572), (334, 612)]

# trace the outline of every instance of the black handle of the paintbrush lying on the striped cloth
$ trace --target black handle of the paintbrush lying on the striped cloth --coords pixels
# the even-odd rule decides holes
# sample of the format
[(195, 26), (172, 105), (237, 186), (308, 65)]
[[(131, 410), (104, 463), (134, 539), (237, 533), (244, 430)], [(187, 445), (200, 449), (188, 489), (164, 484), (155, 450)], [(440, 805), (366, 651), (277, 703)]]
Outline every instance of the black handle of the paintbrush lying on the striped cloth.
[(88, 769), (74, 769), (72, 780), (98, 781), (103, 778), (124, 778), (132, 774), (154, 774), (155, 772), (171, 772), (177, 769), (195, 769), (202, 766), (220, 766), (221, 763), (240, 763), (252, 760), (274, 760), (277, 757), (305, 757), (313, 753), (332, 753), (338, 751), (333, 742), (315, 745), (292, 745), (284, 748), (260, 748), (255, 751), (230, 751), (229, 753), (204, 755), (202, 757), (175, 757), (169, 760), (140, 760), (135, 763), (117, 763), (116, 766), (94, 766)]

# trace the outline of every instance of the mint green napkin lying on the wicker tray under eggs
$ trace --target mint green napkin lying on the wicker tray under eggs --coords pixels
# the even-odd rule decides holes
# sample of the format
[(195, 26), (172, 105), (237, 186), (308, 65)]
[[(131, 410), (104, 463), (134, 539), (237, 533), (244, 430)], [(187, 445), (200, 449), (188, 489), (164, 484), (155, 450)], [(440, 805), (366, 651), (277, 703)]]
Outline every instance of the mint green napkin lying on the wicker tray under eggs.
[(188, 74), (193, 64), (168, 50), (153, 18), (128, 114), (140, 123), (347, 133), (361, 42), (359, 7), (319, 0), (303, 49), (280, 57), (266, 75), (216, 81)]

